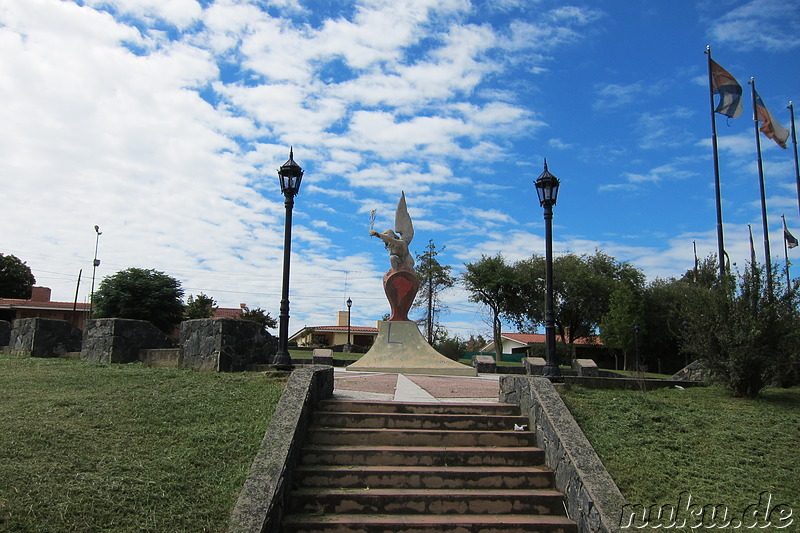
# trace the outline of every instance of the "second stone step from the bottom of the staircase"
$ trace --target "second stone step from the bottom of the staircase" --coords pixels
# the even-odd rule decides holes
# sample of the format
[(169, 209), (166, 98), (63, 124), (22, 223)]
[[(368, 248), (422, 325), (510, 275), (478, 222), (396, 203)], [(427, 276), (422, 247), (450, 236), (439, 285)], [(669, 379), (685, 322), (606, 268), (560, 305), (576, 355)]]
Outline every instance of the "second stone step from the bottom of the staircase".
[(297, 514), (563, 514), (555, 490), (336, 489), (296, 490), (289, 512)]

